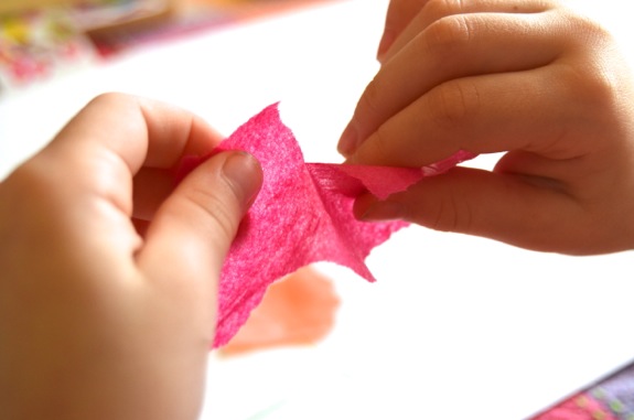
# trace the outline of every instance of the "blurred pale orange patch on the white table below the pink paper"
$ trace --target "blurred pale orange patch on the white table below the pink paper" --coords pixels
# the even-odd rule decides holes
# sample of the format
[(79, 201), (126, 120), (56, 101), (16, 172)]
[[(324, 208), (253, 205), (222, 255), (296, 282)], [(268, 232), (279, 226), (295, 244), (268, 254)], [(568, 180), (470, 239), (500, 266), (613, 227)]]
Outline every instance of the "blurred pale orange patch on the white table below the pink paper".
[(271, 284), (223, 355), (314, 344), (332, 330), (340, 300), (327, 277), (304, 267)]

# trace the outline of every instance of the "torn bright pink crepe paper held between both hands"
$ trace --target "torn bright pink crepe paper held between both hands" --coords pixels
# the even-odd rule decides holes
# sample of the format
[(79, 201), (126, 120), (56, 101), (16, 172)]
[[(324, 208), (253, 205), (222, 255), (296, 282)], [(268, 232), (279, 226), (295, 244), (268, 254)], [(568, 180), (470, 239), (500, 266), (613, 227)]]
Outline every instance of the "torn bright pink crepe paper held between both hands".
[[(277, 104), (238, 128), (213, 153), (223, 150), (255, 155), (264, 183), (223, 267), (215, 347), (235, 335), (269, 284), (309, 263), (335, 262), (375, 281), (365, 258), (407, 224), (359, 222), (353, 214), (354, 200), (368, 191), (385, 198), (472, 158), (459, 153), (423, 170), (304, 163)], [(180, 175), (204, 159), (189, 159)]]

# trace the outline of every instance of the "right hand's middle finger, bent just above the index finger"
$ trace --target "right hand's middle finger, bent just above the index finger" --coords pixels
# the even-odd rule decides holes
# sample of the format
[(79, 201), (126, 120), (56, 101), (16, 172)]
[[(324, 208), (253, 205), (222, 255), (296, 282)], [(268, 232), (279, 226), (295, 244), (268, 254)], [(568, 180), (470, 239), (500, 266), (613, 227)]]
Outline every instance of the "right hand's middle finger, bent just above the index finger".
[[(339, 149), (351, 155), (367, 136), (417, 98), (461, 77), (520, 72), (552, 62), (569, 42), (526, 14), (466, 14), (437, 23), (385, 64), (363, 93)], [(522, 45), (520, 49), (517, 45)]]

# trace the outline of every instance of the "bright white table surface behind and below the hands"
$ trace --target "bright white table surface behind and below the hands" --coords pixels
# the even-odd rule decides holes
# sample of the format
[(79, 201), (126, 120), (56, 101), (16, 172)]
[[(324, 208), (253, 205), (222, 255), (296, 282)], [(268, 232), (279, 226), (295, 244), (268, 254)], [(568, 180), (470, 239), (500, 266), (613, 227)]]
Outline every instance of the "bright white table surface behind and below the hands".
[[(181, 105), (227, 134), (281, 101), (307, 160), (340, 162), (339, 134), (378, 68), (386, 4), (197, 34), (0, 97), (0, 177), (108, 90)], [(626, 46), (624, 6), (578, 6)], [(377, 283), (322, 266), (343, 302), (322, 343), (213, 354), (202, 418), (524, 419), (634, 359), (632, 252), (573, 258), (410, 227), (368, 266)]]

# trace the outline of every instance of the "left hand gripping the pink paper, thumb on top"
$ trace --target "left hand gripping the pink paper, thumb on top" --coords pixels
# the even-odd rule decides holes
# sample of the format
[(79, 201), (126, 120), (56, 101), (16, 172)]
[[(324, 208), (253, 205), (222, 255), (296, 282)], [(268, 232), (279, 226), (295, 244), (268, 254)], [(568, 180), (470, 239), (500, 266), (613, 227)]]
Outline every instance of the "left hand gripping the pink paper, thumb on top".
[(2, 419), (197, 417), (219, 270), (261, 182), (227, 152), (174, 187), (181, 157), (216, 142), (109, 94), (0, 184)]

